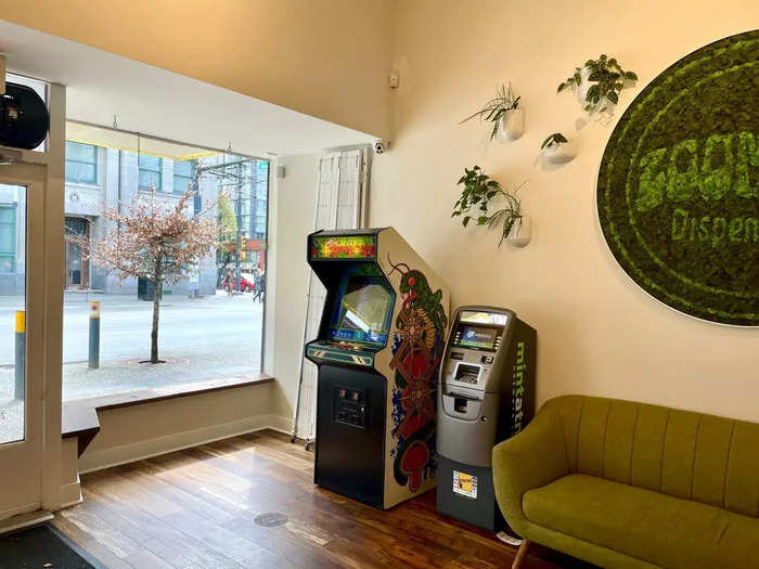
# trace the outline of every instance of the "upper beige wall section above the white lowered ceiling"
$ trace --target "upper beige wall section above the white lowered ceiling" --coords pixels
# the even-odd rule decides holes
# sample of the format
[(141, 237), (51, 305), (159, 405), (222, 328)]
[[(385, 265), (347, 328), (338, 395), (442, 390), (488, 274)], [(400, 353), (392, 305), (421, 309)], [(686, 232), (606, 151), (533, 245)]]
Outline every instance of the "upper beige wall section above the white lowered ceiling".
[(375, 135), (395, 0), (0, 0), (3, 20)]

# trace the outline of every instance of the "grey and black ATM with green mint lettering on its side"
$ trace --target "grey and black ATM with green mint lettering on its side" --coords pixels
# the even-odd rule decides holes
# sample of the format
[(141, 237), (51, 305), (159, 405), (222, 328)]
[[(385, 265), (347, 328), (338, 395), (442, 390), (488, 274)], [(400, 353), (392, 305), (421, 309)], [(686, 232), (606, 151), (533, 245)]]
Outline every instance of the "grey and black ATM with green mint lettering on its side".
[(497, 531), (492, 448), (535, 414), (535, 328), (511, 310), (461, 307), (440, 366), (437, 508)]

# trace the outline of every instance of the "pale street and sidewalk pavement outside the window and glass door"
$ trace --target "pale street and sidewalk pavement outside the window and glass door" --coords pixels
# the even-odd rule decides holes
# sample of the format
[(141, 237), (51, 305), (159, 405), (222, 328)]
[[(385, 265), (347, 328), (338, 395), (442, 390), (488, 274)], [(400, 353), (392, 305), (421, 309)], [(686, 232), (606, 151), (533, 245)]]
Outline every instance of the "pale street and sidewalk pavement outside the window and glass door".
[[(159, 357), (150, 358), (152, 302), (123, 295), (101, 300), (101, 366), (89, 370), (88, 303), (83, 295), (64, 303), (63, 398), (81, 399), (203, 382), (260, 371), (262, 305), (243, 294), (202, 299), (166, 296), (160, 306)], [(14, 312), (12, 298), (0, 299), (0, 442), (23, 432), (21, 405), (12, 401)]]

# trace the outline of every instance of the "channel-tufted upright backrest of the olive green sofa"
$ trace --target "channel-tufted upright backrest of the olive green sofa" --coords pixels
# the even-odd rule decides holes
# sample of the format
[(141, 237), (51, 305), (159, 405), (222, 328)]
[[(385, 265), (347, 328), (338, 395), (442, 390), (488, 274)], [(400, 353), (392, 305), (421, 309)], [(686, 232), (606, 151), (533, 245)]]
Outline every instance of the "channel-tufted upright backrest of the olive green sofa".
[(759, 517), (759, 424), (657, 405), (564, 396), (569, 470)]

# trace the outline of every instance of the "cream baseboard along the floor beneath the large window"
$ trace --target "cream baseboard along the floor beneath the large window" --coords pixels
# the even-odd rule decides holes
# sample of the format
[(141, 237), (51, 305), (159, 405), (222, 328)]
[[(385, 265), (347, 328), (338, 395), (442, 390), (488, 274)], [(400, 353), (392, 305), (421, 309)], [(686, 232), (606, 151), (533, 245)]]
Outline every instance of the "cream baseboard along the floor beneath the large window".
[(94, 473), (257, 430), (272, 429), (290, 435), (290, 423), (291, 419), (287, 417), (258, 415), (221, 425), (176, 432), (147, 441), (113, 447), (102, 451), (89, 450), (79, 458), (79, 464), (81, 465), (79, 474)]

